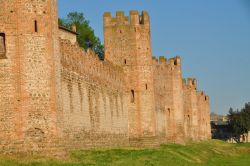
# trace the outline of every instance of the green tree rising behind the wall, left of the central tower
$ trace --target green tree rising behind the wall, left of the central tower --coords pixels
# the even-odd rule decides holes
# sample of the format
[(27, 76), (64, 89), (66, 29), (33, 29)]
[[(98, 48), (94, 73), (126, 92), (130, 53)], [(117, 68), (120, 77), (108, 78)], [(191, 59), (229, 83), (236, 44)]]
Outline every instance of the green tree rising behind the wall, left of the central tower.
[(79, 46), (85, 50), (92, 49), (101, 60), (104, 59), (104, 47), (100, 39), (95, 36), (94, 30), (90, 27), (89, 21), (86, 20), (83, 13), (70, 12), (66, 19), (59, 18), (58, 23), (69, 29), (75, 25), (79, 33), (77, 36)]

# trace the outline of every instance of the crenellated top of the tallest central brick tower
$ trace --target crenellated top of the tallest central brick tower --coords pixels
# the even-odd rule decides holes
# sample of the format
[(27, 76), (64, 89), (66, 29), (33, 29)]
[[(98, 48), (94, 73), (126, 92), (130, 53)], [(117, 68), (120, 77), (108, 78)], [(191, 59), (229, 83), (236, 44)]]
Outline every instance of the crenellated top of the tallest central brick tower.
[(110, 12), (103, 14), (104, 26), (116, 25), (147, 25), (149, 26), (149, 15), (147, 11), (142, 11), (139, 14), (136, 10), (131, 10), (129, 16), (125, 16), (124, 11), (117, 11), (116, 16), (113, 17)]

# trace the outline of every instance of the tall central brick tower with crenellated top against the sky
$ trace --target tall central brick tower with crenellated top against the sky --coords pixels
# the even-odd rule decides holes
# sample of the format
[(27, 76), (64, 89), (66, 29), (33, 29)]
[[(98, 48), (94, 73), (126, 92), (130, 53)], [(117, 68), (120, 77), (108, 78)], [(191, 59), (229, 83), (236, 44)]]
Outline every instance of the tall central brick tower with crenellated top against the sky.
[(149, 15), (130, 11), (104, 13), (105, 59), (122, 66), (126, 73), (129, 101), (129, 135), (155, 136), (155, 99)]

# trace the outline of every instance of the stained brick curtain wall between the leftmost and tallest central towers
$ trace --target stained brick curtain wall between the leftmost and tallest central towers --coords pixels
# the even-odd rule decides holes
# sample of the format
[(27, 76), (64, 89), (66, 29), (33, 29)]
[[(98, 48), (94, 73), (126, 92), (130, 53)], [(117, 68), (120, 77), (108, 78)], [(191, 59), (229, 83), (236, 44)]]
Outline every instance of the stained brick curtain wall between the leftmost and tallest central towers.
[[(60, 40), (63, 139), (77, 147), (128, 145), (128, 96), (121, 67)], [(73, 146), (73, 145), (72, 145)]]

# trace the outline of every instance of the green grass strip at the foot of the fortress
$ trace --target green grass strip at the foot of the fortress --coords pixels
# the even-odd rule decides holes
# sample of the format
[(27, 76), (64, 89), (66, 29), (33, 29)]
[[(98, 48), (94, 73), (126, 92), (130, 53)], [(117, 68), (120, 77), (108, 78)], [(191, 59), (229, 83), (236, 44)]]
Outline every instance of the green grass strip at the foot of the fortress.
[(250, 144), (211, 140), (188, 145), (162, 145), (156, 149), (106, 149), (74, 151), (64, 160), (0, 156), (0, 166), (161, 166), (161, 165), (250, 165)]

